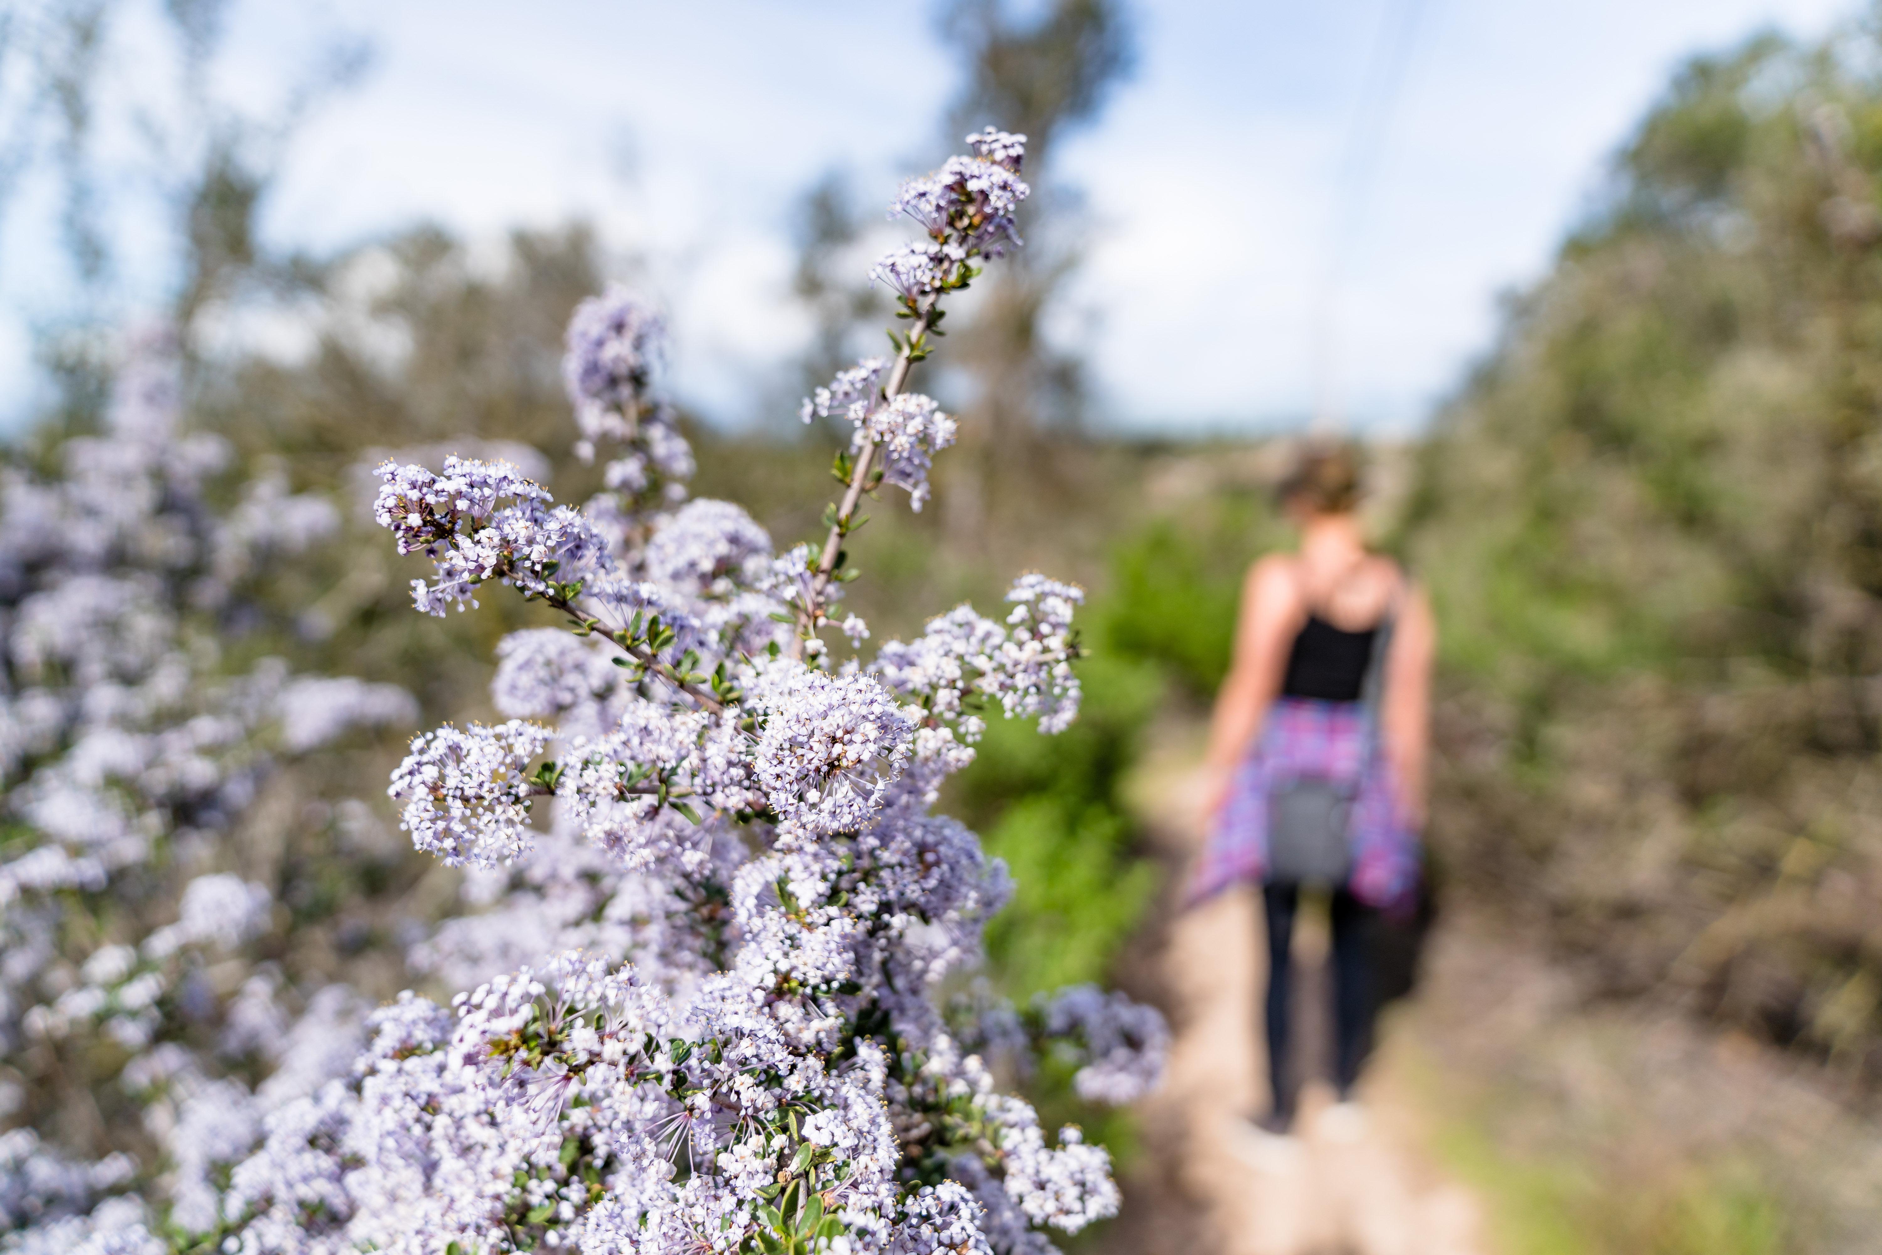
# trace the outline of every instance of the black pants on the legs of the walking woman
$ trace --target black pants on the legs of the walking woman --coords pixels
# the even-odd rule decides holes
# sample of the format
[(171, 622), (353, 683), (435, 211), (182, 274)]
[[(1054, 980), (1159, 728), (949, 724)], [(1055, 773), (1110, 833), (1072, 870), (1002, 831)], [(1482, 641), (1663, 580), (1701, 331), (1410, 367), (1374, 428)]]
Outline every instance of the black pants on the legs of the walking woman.
[[(1274, 1112), (1293, 1116), (1299, 1078), (1287, 1063), (1287, 1010), (1293, 995), (1295, 884), (1261, 890), (1268, 916), (1268, 1084)], [(1372, 1048), (1372, 922), (1378, 913), (1344, 888), (1332, 896), (1332, 1082), (1348, 1097)]]

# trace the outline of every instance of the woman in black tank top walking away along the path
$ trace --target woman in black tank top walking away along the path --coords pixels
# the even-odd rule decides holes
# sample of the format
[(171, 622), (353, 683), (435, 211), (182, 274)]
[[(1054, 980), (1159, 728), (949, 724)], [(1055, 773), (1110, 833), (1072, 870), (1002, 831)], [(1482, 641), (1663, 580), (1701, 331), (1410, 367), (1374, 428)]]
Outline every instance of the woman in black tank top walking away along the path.
[(1280, 489), (1297, 553), (1253, 564), (1208, 745), (1210, 837), (1189, 901), (1261, 884), (1268, 935), (1268, 1093), (1285, 1133), (1289, 946), (1302, 888), (1332, 894), (1332, 1076), (1351, 1099), (1372, 1037), (1370, 924), (1410, 901), (1425, 820), (1430, 606), (1355, 514), (1359, 461), (1310, 448)]

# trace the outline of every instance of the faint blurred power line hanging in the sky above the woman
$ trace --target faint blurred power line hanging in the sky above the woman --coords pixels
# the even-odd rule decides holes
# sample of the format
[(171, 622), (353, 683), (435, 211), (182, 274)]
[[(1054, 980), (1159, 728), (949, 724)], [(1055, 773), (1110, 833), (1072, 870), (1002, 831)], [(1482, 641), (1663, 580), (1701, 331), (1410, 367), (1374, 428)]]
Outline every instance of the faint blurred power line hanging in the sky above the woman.
[(1325, 269), (1317, 309), (1314, 314), (1314, 420), (1312, 429), (1332, 431), (1342, 425), (1340, 397), (1340, 286), (1346, 262), (1366, 211), (1366, 198), (1385, 152), (1385, 137), (1393, 111), (1412, 64), (1425, 0), (1387, 0), (1380, 38), (1372, 47), (1366, 77), (1361, 83), (1353, 128), (1346, 141), (1346, 158), (1334, 179), (1332, 213), (1327, 220)]

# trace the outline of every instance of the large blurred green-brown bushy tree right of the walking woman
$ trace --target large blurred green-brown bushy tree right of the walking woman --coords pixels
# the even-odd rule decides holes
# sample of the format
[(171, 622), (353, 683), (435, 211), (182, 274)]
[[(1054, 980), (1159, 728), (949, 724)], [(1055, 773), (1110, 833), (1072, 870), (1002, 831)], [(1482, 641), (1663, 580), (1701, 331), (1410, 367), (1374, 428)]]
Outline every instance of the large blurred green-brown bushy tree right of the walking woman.
[(1882, 1069), (1882, 77), (1688, 64), (1442, 416), (1436, 841), (1596, 988)]

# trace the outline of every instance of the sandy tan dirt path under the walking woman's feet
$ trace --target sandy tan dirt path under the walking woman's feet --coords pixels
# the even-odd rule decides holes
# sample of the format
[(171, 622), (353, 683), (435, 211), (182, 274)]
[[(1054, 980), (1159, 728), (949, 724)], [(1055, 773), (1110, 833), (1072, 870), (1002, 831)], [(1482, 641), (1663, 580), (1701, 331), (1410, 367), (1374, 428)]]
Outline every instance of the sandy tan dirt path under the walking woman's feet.
[[(1133, 785), (1172, 869), (1201, 839), (1195, 813), (1195, 745), (1157, 738), (1167, 749)], [(1221, 1255), (1483, 1255), (1479, 1206), (1419, 1153), (1417, 1118), (1396, 1091), (1391, 1033), (1361, 1084), (1361, 1106), (1336, 1108), (1331, 1089), (1310, 1084), (1297, 1136), (1270, 1138), (1244, 1116), (1267, 1108), (1255, 993), (1259, 905), (1248, 892), (1171, 914), (1139, 958), (1135, 984), (1156, 992), (1171, 1014), (1174, 1048), (1163, 1089), (1144, 1110), (1144, 1150), (1159, 1193), (1180, 1195), (1186, 1215), (1140, 1249)], [(1312, 973), (1325, 933), (1302, 929), (1297, 961)], [(1302, 980), (1317, 984), (1312, 975)], [(1161, 1200), (1171, 1210), (1172, 1200)], [(1178, 1223), (1180, 1221), (1180, 1223)]]

